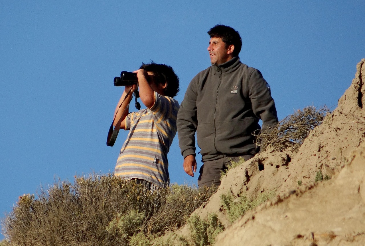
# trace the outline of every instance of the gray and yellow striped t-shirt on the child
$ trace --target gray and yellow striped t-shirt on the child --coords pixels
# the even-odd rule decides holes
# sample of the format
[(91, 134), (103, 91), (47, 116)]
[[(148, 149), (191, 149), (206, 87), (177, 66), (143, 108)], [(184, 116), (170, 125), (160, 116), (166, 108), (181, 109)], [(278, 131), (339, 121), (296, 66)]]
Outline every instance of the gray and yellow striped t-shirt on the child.
[(124, 179), (147, 180), (159, 187), (169, 184), (167, 153), (176, 134), (178, 102), (155, 92), (150, 109), (129, 113), (125, 129), (130, 130), (124, 142), (114, 175)]

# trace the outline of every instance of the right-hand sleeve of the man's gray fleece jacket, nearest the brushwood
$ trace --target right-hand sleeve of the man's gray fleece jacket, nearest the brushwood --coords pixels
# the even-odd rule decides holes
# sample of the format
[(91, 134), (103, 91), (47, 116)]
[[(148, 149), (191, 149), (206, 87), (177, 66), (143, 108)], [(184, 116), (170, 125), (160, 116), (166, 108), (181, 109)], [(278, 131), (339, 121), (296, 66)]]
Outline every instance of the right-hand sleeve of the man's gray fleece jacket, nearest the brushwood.
[(274, 99), (271, 97), (269, 84), (257, 69), (249, 77), (248, 90), (252, 110), (262, 120), (262, 130), (277, 123), (276, 107)]

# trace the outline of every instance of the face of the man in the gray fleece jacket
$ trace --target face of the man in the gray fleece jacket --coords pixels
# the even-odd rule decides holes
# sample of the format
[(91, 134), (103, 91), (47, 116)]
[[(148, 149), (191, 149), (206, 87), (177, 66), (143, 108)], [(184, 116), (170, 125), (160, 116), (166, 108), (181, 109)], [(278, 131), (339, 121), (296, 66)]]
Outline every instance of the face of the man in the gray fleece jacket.
[(222, 64), (233, 58), (230, 48), (226, 47), (226, 43), (220, 37), (212, 37), (209, 40), (208, 51), (212, 64)]

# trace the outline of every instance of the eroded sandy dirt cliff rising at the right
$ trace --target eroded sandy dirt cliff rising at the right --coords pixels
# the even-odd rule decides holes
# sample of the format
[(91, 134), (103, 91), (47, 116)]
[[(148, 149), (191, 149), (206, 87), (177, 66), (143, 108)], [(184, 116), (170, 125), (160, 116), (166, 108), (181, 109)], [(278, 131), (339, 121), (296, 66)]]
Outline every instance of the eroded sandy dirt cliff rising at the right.
[[(228, 226), (216, 245), (365, 245), (364, 61), (338, 107), (297, 153), (266, 151), (230, 170), (217, 194), (196, 211), (202, 217), (217, 212), (227, 225), (220, 194), (276, 191)], [(331, 180), (314, 182), (318, 171)]]

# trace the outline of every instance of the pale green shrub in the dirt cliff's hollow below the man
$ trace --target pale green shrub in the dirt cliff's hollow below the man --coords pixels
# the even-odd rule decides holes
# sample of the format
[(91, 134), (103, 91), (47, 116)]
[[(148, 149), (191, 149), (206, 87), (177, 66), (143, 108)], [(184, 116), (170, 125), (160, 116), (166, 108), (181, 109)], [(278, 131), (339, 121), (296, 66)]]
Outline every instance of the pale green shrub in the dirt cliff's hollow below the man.
[(273, 197), (272, 193), (261, 193), (256, 199), (248, 199), (247, 197), (239, 197), (235, 199), (231, 194), (221, 195), (221, 201), (223, 209), (227, 213), (227, 218), (230, 223), (233, 223), (236, 219), (246, 213), (247, 210), (253, 209), (261, 203), (267, 201)]

